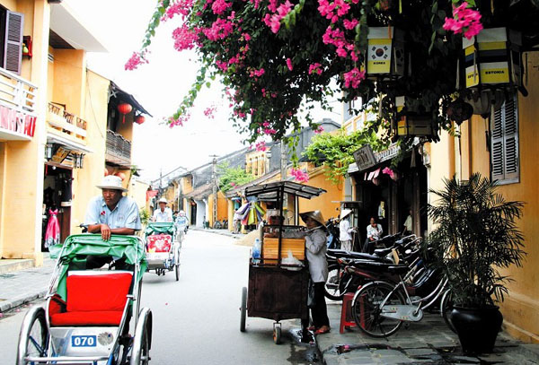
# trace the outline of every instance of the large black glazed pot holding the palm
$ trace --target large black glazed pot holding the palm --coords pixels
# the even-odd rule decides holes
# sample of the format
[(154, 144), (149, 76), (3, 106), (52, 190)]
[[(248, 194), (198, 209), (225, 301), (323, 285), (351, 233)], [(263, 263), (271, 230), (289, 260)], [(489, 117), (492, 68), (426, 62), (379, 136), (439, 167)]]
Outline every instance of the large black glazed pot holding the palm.
[(454, 307), (449, 320), (455, 326), (464, 353), (484, 353), (492, 352), (503, 316), (495, 306), (482, 309)]

